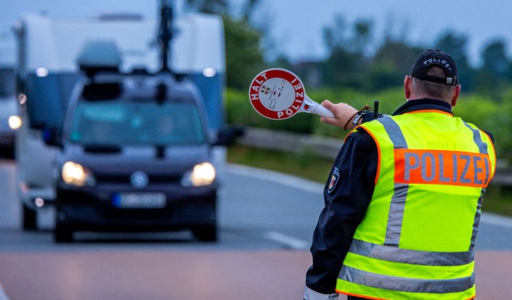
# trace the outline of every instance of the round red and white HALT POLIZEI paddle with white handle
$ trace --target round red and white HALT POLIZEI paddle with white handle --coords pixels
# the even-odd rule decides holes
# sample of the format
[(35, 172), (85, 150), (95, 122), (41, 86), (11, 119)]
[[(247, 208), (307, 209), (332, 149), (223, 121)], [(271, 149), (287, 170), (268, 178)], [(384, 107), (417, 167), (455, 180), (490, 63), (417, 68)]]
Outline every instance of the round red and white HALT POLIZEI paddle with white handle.
[(252, 79), (249, 100), (260, 115), (284, 120), (304, 112), (334, 118), (330, 110), (306, 95), (297, 75), (285, 69), (268, 69)]

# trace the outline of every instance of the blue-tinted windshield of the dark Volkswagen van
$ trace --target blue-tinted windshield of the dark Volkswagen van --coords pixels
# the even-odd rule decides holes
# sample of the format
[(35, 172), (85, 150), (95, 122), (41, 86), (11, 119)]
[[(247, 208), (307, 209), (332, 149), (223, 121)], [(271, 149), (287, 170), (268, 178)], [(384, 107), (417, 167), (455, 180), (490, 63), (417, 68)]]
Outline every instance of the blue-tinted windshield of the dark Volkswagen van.
[(193, 103), (82, 101), (71, 119), (70, 141), (84, 145), (200, 144), (205, 136)]

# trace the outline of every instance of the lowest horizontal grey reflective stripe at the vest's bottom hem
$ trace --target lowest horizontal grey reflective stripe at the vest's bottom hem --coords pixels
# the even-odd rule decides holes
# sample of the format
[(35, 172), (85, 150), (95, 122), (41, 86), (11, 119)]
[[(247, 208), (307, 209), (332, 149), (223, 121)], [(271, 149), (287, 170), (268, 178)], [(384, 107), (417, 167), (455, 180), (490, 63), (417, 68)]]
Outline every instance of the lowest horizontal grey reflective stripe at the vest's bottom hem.
[(411, 293), (457, 293), (473, 287), (475, 275), (455, 279), (417, 279), (381, 275), (343, 266), (339, 278), (374, 288)]

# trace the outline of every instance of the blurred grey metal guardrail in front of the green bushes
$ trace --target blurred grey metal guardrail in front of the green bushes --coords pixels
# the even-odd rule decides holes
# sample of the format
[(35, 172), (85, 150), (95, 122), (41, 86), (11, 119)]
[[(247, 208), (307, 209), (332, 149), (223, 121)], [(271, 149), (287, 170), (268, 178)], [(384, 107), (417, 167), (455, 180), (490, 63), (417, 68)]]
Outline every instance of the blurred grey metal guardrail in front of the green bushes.
[[(297, 154), (310, 152), (320, 157), (334, 159), (343, 145), (343, 139), (246, 127), (245, 135), (239, 139), (239, 143), (253, 148)], [(498, 163), (498, 170), (493, 183), (512, 187), (512, 169), (502, 165), (504, 164)]]

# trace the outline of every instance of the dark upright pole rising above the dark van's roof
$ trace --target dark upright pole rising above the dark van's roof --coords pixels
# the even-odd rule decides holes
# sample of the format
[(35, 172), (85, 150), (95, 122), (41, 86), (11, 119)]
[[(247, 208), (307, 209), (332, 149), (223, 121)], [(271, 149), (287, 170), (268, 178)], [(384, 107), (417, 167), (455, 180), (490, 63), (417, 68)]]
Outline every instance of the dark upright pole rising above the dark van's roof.
[(160, 55), (162, 67), (160, 72), (173, 73), (169, 68), (170, 41), (173, 39), (173, 0), (161, 0), (160, 5), (160, 28), (158, 30), (158, 42), (160, 44)]

